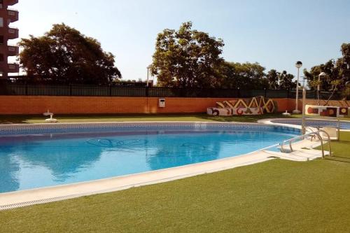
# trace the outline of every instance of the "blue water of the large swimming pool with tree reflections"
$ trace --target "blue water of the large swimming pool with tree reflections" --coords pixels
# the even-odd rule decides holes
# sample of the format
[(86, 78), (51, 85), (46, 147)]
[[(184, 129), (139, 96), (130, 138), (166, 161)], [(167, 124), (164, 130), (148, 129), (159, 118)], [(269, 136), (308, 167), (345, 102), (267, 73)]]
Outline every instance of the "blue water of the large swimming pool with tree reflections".
[(151, 130), (0, 137), (0, 192), (218, 160), (294, 137), (265, 130)]

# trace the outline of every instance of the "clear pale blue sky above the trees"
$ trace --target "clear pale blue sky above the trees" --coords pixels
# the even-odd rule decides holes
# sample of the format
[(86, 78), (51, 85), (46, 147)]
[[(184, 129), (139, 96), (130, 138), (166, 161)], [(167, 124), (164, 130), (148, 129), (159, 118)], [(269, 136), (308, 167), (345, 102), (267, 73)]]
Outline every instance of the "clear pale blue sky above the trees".
[(349, 0), (20, 0), (20, 37), (40, 36), (64, 22), (116, 55), (125, 79), (146, 78), (155, 38), (165, 28), (192, 21), (195, 29), (223, 38), (230, 62), (259, 62), (267, 70), (296, 74), (340, 57), (350, 43)]

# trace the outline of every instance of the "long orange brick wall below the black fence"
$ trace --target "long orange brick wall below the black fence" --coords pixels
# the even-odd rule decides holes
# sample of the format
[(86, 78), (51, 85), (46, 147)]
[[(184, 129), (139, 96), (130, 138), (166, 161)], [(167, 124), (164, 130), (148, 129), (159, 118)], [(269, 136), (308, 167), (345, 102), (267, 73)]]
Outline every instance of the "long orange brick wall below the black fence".
[[(0, 114), (41, 114), (47, 110), (53, 113), (204, 113), (216, 101), (232, 98), (165, 98), (165, 108), (158, 108), (158, 98), (146, 97), (48, 97), (48, 96), (0, 96)], [(274, 99), (279, 112), (292, 111), (294, 99)], [(307, 104), (314, 104), (308, 100)], [(344, 104), (332, 101), (330, 104)], [(347, 104), (350, 104), (348, 101)], [(300, 101), (299, 106), (302, 103)]]

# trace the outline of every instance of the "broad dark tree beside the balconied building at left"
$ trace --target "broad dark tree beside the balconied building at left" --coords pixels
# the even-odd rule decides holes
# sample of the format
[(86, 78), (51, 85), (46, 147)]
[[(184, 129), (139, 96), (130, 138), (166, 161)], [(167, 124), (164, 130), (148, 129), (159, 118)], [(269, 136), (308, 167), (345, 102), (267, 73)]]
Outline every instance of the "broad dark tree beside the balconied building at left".
[(54, 24), (44, 36), (22, 38), (20, 64), (29, 78), (57, 84), (111, 84), (121, 78), (114, 56), (101, 44), (66, 24)]

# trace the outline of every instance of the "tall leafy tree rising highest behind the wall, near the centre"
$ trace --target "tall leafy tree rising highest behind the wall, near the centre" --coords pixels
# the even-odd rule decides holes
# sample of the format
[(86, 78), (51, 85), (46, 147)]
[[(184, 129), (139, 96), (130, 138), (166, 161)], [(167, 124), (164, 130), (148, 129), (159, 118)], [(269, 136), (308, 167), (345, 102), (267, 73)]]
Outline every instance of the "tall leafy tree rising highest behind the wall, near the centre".
[(216, 87), (223, 45), (221, 39), (193, 30), (192, 22), (179, 31), (165, 29), (158, 34), (151, 71), (160, 86)]

